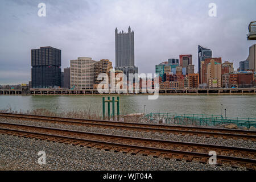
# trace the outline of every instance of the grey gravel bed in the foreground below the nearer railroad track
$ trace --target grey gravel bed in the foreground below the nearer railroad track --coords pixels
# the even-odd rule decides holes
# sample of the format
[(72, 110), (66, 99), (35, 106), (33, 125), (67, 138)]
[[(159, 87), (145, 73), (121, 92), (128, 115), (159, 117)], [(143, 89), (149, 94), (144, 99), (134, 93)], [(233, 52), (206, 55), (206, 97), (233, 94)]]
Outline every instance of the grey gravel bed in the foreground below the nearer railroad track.
[[(38, 152), (46, 152), (46, 165)], [(245, 170), (0, 135), (0, 170)]]

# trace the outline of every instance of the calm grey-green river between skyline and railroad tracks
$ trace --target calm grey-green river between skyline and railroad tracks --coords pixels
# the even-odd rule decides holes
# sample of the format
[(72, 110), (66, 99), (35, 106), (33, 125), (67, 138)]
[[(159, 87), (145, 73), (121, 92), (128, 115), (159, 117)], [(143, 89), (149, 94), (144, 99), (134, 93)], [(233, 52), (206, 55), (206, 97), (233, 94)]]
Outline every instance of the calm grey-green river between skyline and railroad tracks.
[[(120, 96), (121, 114), (144, 113), (144, 105), (146, 113), (221, 114), (221, 104), (227, 117), (256, 118), (256, 96), (159, 96), (158, 100)], [(0, 109), (9, 107), (17, 111), (90, 110), (101, 115), (102, 96), (0, 96)]]

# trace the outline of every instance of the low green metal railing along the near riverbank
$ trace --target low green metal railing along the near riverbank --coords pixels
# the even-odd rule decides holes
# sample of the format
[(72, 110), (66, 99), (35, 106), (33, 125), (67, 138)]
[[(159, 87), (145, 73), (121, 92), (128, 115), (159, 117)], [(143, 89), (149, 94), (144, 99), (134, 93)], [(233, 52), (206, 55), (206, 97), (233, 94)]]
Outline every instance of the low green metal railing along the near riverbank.
[(256, 127), (256, 118), (224, 118), (222, 115), (207, 114), (171, 114), (171, 113), (150, 113), (144, 116), (150, 121), (163, 121), (168, 124), (198, 125), (198, 126), (220, 126), (233, 123), (237, 126), (250, 128)]

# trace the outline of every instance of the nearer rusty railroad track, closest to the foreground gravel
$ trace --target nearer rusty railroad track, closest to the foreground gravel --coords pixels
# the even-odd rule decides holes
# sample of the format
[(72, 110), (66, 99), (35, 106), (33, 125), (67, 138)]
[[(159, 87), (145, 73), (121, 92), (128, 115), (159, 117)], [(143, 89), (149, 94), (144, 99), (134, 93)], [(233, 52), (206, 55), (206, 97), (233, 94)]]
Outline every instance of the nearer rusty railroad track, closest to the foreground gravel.
[(216, 146), (211, 144), (176, 142), (148, 138), (125, 137), (100, 133), (63, 130), (14, 123), (0, 123), (0, 134), (34, 138), (74, 146), (95, 147), (100, 150), (130, 153), (132, 155), (162, 156), (166, 159), (199, 161), (207, 163), (209, 151), (216, 151), (217, 164), (229, 163), (233, 167), (256, 169), (256, 149)]

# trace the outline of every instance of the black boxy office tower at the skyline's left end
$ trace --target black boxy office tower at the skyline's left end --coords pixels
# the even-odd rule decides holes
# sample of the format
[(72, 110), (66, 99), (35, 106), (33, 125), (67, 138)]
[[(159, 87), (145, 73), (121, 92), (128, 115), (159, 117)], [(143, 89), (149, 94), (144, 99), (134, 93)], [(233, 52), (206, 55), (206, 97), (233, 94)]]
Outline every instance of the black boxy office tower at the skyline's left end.
[(40, 47), (31, 50), (32, 88), (54, 88), (61, 86), (61, 50)]

